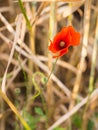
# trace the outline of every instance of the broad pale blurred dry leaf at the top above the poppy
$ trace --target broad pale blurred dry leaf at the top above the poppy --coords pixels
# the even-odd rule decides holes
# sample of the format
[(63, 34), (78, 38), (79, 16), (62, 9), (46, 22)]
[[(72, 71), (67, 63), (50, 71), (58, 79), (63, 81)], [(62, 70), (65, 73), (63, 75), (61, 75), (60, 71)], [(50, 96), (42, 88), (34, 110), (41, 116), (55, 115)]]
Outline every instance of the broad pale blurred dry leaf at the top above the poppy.
[[(58, 9), (57, 9), (57, 21), (60, 21), (63, 18), (66, 18), (67, 16), (71, 15), (72, 13), (74, 13), (80, 6), (82, 6), (82, 4), (84, 3), (85, 0), (79, 2), (79, 3), (73, 3), (72, 6), (62, 6), (60, 5), (60, 3), (58, 3)], [(64, 3), (62, 3), (64, 4)], [(45, 20), (49, 19), (49, 6), (46, 7), (45, 9), (43, 9), (43, 11), (40, 14), (39, 19), (36, 21), (36, 24), (41, 24), (43, 23)]]

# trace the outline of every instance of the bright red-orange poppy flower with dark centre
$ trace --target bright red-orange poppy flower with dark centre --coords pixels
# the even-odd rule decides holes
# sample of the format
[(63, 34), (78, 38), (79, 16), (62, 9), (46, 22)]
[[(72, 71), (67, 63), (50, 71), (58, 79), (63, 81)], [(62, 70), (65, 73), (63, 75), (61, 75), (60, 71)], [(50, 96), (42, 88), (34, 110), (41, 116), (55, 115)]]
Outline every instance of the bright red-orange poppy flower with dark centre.
[(49, 50), (54, 53), (54, 58), (63, 56), (68, 52), (70, 46), (80, 43), (80, 33), (76, 32), (72, 26), (64, 27), (53, 41), (50, 40)]

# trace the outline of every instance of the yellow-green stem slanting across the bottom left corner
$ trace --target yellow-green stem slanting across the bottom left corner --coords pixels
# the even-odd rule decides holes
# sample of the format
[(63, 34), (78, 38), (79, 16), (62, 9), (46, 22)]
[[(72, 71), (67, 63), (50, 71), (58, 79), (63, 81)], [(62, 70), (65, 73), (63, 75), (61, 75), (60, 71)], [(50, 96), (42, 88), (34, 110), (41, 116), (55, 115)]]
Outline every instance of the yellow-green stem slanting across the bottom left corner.
[(21, 117), (16, 107), (12, 104), (12, 102), (9, 100), (9, 98), (0, 90), (0, 96), (4, 99), (4, 101), (9, 105), (11, 110), (15, 113), (15, 115), (19, 118), (21, 123), (23, 124), (24, 128), (26, 130), (31, 130), (31, 128), (28, 126), (28, 124), (25, 122), (25, 120)]

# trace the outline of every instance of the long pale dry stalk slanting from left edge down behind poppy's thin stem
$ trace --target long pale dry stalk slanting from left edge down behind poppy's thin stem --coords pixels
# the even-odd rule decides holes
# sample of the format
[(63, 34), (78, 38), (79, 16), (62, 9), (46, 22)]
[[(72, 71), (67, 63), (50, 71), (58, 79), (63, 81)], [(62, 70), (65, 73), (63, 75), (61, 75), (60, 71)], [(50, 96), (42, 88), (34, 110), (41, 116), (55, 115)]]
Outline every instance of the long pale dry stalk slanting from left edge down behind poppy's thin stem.
[[(9, 43), (9, 42), (10, 42), (10, 43), (13, 43), (12, 41), (9, 41), (9, 39), (6, 38), (6, 37), (5, 37), (4, 35), (2, 35), (1, 33), (0, 33), (0, 37), (1, 37), (6, 43)], [(21, 43), (20, 40), (19, 40), (18, 42)], [(24, 51), (22, 48), (18, 47), (17, 45), (15, 46), (15, 49), (16, 49), (17, 52), (19, 52), (19, 53), (21, 52), (21, 54), (22, 54), (23, 56), (25, 56), (26, 58), (31, 59), (37, 66), (39, 66), (44, 72), (46, 72), (46, 73), (49, 75), (49, 74), (50, 74), (50, 71), (49, 71), (48, 67), (47, 67), (45, 64), (43, 64), (42, 62), (40, 62), (40, 60), (38, 60), (37, 56), (33, 55), (32, 52), (31, 52), (31, 50), (30, 50), (25, 44), (22, 44), (22, 47), (25, 47), (24, 49), (26, 49), (28, 53), (27, 53), (26, 51)], [(60, 89), (61, 89), (62, 91), (64, 91), (64, 93), (65, 93), (68, 97), (71, 96), (70, 90), (69, 90), (54, 74), (51, 75), (51, 79), (60, 87)]]

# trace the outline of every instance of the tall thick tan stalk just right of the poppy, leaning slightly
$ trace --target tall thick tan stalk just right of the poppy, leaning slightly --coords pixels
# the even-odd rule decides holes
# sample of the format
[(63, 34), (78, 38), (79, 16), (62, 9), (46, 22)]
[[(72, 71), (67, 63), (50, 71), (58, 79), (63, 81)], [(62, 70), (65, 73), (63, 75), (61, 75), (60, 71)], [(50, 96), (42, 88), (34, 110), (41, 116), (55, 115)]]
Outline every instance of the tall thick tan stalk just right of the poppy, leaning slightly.
[(87, 56), (88, 35), (89, 35), (89, 25), (90, 25), (90, 22), (89, 22), (90, 21), (90, 5), (91, 5), (90, 0), (85, 1), (83, 46), (82, 46), (82, 51), (81, 51), (80, 66), (78, 68), (78, 73), (77, 73), (75, 85), (73, 88), (73, 94), (72, 94), (73, 101), (70, 104), (70, 109), (75, 104), (75, 99), (79, 91), (82, 72), (84, 69), (85, 57)]

